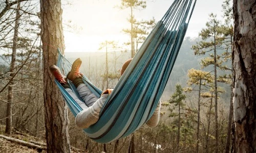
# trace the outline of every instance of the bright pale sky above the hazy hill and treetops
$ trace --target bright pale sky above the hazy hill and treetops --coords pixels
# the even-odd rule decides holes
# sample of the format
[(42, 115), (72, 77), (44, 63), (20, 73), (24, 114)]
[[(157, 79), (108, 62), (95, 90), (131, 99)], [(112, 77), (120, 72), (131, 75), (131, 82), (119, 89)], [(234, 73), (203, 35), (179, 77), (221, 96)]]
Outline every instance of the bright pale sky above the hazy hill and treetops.
[[(148, 0), (144, 10), (135, 10), (137, 20), (159, 21), (174, 0)], [(222, 20), (223, 0), (197, 0), (195, 10), (190, 19), (186, 36), (198, 37), (205, 28), (209, 14), (217, 14)], [(63, 6), (65, 52), (99, 52), (104, 41), (116, 41), (119, 44), (130, 40), (122, 29), (129, 29), (127, 18), (130, 9), (121, 10), (121, 0), (73, 0), (70, 5)], [(71, 25), (67, 28), (66, 24)]]

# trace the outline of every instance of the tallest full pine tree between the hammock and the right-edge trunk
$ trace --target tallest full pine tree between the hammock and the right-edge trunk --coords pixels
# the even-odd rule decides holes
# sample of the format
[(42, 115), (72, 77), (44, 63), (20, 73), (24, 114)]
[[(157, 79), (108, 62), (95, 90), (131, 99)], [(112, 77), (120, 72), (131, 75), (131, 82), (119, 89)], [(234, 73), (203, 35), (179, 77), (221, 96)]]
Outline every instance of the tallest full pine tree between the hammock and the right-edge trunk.
[[(216, 137), (216, 152), (218, 152), (219, 143), (219, 125), (218, 125), (218, 84), (217, 84), (217, 67), (222, 64), (220, 61), (220, 56), (218, 55), (218, 49), (222, 49), (222, 44), (224, 41), (223, 32), (221, 28), (220, 21), (217, 20), (217, 15), (211, 13), (209, 15), (210, 19), (206, 22), (206, 28), (202, 29), (199, 36), (201, 36), (202, 41), (197, 43), (197, 45), (192, 46), (195, 51), (195, 55), (205, 55), (209, 54), (209, 57), (204, 58), (201, 61), (202, 67), (208, 67), (209, 65), (214, 65), (214, 89), (215, 89), (215, 137)], [(213, 52), (213, 53), (212, 53)]]

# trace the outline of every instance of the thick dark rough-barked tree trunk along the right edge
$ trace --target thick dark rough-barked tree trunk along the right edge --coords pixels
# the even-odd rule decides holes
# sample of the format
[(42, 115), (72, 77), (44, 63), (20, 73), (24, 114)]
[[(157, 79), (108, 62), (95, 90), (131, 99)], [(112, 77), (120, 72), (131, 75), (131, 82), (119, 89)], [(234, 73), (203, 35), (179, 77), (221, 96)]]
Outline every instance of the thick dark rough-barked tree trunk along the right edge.
[(233, 152), (256, 152), (256, 2), (234, 0)]

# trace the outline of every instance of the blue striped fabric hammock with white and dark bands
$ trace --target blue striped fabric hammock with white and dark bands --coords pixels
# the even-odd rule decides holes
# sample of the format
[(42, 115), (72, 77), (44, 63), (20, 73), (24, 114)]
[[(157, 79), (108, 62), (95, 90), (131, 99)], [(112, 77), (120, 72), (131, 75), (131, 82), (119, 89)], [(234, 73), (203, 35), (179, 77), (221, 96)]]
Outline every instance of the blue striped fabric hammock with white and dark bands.
[[(196, 0), (174, 1), (156, 24), (105, 101), (99, 120), (84, 129), (92, 140), (109, 143), (126, 137), (150, 119), (173, 69), (195, 4)], [(58, 51), (60, 53), (59, 49)], [(67, 75), (72, 64), (59, 54), (57, 66)], [(99, 97), (102, 91), (86, 76), (83, 75), (82, 79)], [(82, 109), (56, 80), (55, 82), (76, 116)], [(70, 85), (76, 93), (74, 85)]]

